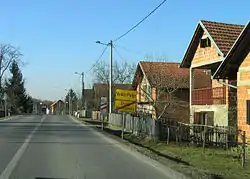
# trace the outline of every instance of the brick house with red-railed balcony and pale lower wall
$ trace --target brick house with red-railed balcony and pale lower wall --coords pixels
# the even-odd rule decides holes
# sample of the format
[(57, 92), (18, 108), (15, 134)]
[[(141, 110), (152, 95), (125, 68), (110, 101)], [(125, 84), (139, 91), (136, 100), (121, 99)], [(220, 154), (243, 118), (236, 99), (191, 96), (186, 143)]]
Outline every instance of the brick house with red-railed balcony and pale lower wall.
[[(218, 126), (235, 126), (237, 90), (235, 79), (211, 79), (206, 88), (193, 72), (204, 69), (212, 76), (243, 30), (243, 25), (199, 21), (180, 68), (190, 71), (190, 122)], [(229, 85), (225, 85), (229, 84)], [(230, 87), (231, 86), (231, 87)]]

